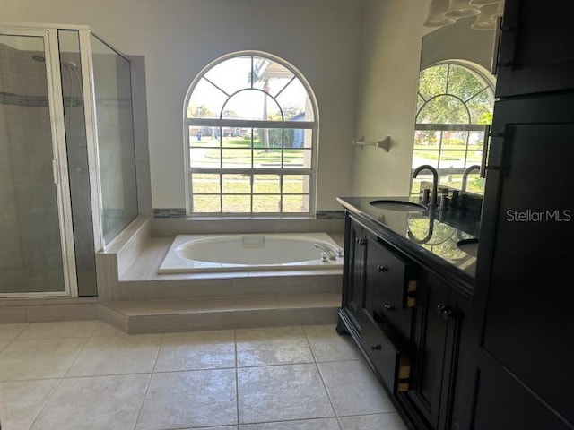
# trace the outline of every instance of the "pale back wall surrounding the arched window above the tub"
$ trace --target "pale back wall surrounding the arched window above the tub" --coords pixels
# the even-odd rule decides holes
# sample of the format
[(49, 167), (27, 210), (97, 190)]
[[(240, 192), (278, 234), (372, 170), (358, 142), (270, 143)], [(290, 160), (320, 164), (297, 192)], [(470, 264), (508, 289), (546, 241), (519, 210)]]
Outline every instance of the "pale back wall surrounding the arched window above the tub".
[(154, 208), (185, 207), (182, 109), (190, 82), (205, 64), (243, 49), (284, 58), (315, 90), (320, 116), (317, 209), (338, 210), (335, 196), (351, 193), (361, 2), (2, 3), (4, 22), (87, 24), (126, 54), (145, 56)]

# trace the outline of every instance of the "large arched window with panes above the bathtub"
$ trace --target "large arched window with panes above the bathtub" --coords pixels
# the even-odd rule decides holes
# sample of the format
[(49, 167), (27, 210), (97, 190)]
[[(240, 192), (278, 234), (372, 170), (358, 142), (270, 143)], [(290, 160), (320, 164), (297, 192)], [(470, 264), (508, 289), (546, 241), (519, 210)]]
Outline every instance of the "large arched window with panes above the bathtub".
[(224, 56), (185, 104), (190, 215), (314, 212), (317, 107), (290, 64), (260, 52)]

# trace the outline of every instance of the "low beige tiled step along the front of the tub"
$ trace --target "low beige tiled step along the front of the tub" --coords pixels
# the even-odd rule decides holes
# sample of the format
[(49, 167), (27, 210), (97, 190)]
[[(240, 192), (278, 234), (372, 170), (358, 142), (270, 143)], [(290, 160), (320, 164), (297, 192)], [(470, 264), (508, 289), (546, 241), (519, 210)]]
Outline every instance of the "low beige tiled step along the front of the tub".
[(100, 319), (128, 333), (336, 323), (340, 293), (123, 301), (100, 304)]

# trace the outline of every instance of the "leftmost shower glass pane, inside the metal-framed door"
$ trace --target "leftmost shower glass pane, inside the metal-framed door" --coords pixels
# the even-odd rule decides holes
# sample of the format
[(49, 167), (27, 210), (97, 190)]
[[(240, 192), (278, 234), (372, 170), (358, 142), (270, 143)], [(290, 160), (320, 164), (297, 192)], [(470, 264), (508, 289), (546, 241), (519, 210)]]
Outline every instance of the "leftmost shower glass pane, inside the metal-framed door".
[(46, 40), (0, 34), (0, 293), (65, 291)]

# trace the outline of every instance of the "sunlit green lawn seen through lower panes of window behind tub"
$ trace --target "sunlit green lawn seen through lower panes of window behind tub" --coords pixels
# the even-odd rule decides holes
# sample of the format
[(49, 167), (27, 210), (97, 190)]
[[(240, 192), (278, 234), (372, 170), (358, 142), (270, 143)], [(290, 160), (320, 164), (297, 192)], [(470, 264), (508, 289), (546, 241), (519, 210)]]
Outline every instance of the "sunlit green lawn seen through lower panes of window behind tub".
[[(259, 140), (210, 136), (190, 142), (192, 168), (278, 169), (276, 175), (247, 173), (193, 173), (195, 212), (307, 212), (309, 175), (279, 173), (283, 168), (310, 167), (309, 149), (265, 148)], [(219, 165), (221, 159), (222, 166)], [(221, 194), (221, 195), (220, 195)], [(282, 199), (283, 194), (283, 199)]]

